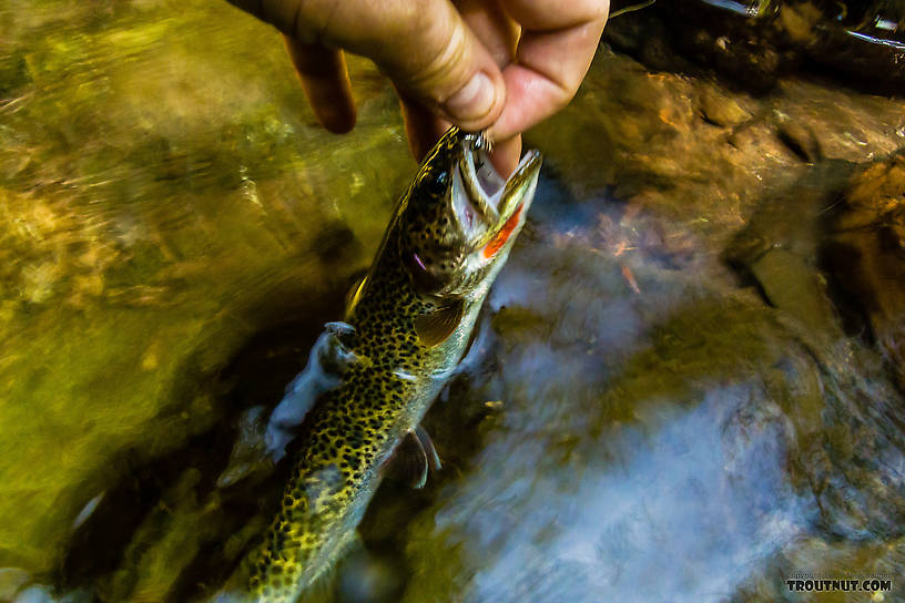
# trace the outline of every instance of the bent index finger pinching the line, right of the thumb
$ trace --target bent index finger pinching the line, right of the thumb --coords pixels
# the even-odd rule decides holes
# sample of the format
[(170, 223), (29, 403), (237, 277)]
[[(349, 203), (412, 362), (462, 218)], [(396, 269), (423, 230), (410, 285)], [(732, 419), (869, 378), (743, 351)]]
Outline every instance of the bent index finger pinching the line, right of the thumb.
[(597, 50), (608, 0), (504, 0), (523, 30), (518, 61), (502, 71), (506, 105), (490, 134), (507, 140), (572, 100)]

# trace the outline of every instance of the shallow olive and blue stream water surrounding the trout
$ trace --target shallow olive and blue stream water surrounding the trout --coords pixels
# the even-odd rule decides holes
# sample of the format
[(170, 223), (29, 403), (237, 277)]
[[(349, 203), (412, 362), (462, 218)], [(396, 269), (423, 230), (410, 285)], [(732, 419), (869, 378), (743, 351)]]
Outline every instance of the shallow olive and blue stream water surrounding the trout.
[[(644, 14), (614, 43), (655, 65)], [(283, 52), (226, 3), (0, 8), (0, 600), (205, 600), (262, 535), (288, 459), (220, 478), (414, 172), (372, 68), (337, 137)], [(444, 469), (385, 482), (318, 599), (902, 599), (905, 102), (675, 61), (601, 48), (529, 133)]]

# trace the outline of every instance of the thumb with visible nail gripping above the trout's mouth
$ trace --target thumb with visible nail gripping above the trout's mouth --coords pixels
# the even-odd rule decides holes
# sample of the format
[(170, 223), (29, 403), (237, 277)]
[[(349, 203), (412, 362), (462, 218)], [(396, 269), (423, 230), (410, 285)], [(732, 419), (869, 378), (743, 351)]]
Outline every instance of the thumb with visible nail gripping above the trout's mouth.
[(367, 57), (405, 96), (465, 130), (502, 112), (502, 74), (449, 0), (230, 1), (305, 43)]

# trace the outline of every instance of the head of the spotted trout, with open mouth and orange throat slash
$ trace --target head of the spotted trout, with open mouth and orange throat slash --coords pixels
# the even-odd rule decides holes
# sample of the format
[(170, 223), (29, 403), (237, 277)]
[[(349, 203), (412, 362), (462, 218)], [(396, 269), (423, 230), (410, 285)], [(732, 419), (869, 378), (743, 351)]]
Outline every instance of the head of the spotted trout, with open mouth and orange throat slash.
[(528, 151), (504, 178), (489, 151), (482, 134), (451, 127), (411, 185), (398, 248), (423, 295), (482, 298), (525, 225), (541, 155)]

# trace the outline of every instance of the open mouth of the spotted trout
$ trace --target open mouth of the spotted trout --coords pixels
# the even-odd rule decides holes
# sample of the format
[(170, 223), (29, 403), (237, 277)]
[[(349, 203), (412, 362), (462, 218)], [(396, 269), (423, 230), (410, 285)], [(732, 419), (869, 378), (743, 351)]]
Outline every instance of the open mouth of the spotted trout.
[(452, 213), (471, 248), (491, 244), (525, 219), (540, 172), (541, 154), (530, 150), (512, 175), (504, 178), (490, 163), (489, 152), (484, 134), (465, 134), (452, 173)]

